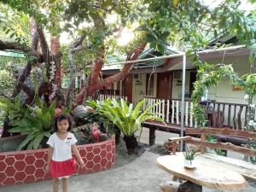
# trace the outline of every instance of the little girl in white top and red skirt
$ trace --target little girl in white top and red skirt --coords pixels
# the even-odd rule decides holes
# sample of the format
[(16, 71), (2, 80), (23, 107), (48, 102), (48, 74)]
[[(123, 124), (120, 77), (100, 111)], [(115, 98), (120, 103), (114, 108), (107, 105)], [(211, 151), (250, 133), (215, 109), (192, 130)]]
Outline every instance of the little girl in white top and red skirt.
[(55, 133), (49, 137), (48, 165), (45, 167), (54, 177), (53, 189), (58, 192), (58, 179), (62, 180), (63, 192), (67, 192), (67, 178), (75, 172), (76, 161), (72, 152), (84, 167), (84, 160), (79, 154), (75, 143), (77, 139), (71, 131), (72, 119), (69, 115), (60, 115), (55, 118)]

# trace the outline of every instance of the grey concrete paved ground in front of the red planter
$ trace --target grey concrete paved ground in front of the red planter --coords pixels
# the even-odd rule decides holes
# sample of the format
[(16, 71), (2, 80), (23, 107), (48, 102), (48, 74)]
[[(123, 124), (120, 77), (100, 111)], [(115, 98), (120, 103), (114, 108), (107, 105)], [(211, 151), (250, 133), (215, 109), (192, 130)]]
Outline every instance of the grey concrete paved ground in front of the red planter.
[[(157, 154), (144, 152), (130, 164), (105, 172), (97, 172), (69, 179), (69, 192), (160, 192), (160, 183), (171, 179), (171, 175), (154, 165)], [(51, 182), (20, 184), (0, 188), (1, 192), (49, 192)], [(61, 191), (61, 190), (60, 190)], [(220, 190), (203, 189), (204, 192)], [(255, 192), (256, 186), (237, 192)], [(224, 191), (222, 191), (224, 192)]]

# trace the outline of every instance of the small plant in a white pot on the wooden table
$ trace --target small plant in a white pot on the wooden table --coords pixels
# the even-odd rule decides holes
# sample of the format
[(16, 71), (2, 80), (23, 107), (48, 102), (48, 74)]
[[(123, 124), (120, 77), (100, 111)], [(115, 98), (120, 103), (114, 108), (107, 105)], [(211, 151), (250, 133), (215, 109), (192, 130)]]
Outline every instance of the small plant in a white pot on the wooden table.
[(184, 155), (184, 167), (193, 169), (195, 168), (195, 156), (197, 155), (197, 152), (199, 151), (198, 148), (193, 146), (186, 146), (186, 150), (183, 152)]

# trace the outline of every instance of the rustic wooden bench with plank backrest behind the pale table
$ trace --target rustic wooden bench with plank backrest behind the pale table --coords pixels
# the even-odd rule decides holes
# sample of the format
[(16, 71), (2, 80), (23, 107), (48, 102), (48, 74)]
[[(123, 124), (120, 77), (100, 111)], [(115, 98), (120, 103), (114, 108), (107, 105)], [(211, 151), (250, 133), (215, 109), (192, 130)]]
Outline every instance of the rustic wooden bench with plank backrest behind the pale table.
[(240, 131), (240, 130), (231, 130), (231, 129), (220, 129), (220, 128), (206, 128), (206, 129), (186, 129), (185, 131), (188, 135), (200, 135), (201, 139), (195, 137), (175, 137), (170, 138), (170, 144), (172, 144), (172, 154), (176, 154), (177, 143), (184, 141), (185, 143), (190, 143), (193, 145), (201, 146), (202, 154), (198, 155), (196, 158), (201, 160), (209, 160), (214, 164), (221, 164), (226, 166), (233, 171), (241, 173), (242, 176), (253, 179), (256, 181), (256, 166), (247, 163), (243, 160), (236, 160), (233, 158), (228, 158), (224, 156), (219, 156), (215, 154), (207, 154), (206, 148), (219, 148), (234, 151), (236, 153), (244, 154), (247, 156), (256, 156), (256, 150), (241, 146), (236, 146), (232, 143), (208, 143), (206, 141), (207, 135), (225, 135), (231, 137), (242, 137), (244, 139), (256, 139), (256, 132), (252, 131)]

